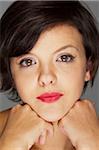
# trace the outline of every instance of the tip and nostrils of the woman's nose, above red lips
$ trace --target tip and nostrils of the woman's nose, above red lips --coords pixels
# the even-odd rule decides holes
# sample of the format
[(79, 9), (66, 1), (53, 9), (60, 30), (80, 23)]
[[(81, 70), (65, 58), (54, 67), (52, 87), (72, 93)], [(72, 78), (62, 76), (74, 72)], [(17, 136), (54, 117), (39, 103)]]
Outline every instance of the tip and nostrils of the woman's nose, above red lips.
[(56, 82), (56, 75), (53, 71), (43, 70), (39, 75), (39, 85), (40, 86), (48, 86), (53, 85)]

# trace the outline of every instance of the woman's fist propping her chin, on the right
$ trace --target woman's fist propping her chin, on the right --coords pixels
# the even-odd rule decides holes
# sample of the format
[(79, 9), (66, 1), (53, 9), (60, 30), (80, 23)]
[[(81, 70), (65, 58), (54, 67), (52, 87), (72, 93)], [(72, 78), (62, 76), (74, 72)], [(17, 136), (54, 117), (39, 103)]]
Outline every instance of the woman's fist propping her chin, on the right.
[(99, 121), (89, 100), (77, 101), (60, 120), (59, 127), (77, 150), (99, 148)]

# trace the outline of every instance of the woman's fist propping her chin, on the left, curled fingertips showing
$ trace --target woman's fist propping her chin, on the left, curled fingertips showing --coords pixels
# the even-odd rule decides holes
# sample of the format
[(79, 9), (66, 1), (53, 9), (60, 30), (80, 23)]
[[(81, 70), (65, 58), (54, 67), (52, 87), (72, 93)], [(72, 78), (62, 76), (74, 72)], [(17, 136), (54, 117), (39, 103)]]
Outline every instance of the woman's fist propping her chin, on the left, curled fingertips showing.
[(18, 150), (27, 150), (36, 141), (44, 144), (48, 133), (53, 134), (53, 128), (50, 123), (41, 119), (29, 105), (22, 106), (18, 104), (10, 111), (7, 125), (0, 141), (8, 149), (15, 147)]

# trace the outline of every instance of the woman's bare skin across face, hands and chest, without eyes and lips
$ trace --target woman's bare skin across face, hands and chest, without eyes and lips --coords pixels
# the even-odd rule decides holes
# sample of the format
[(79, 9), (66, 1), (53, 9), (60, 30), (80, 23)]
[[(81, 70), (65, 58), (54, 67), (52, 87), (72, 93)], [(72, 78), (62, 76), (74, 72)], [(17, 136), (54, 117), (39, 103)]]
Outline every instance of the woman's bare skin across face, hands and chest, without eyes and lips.
[[(68, 54), (68, 61), (61, 61), (61, 56)], [(35, 61), (27, 67), (24, 58)], [(35, 143), (42, 150), (73, 150), (73, 146), (76, 150), (97, 150), (99, 122), (95, 109), (89, 100), (80, 100), (84, 82), (90, 80), (86, 67), (82, 36), (69, 25), (43, 32), (29, 54), (12, 58), (14, 86), (26, 104), (10, 110), (1, 150), (12, 146), (27, 150)], [(53, 91), (64, 95), (51, 104), (36, 99)]]

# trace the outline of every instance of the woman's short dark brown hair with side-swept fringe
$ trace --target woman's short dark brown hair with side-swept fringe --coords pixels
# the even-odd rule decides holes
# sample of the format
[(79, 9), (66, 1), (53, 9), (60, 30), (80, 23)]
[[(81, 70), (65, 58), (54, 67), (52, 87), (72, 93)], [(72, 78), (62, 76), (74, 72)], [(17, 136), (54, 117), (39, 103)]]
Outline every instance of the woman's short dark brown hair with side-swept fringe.
[(90, 11), (76, 0), (27, 0), (14, 2), (0, 20), (1, 91), (15, 92), (10, 58), (28, 53), (44, 30), (58, 24), (72, 25), (81, 33), (93, 84), (99, 65), (99, 32)]

